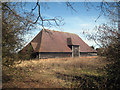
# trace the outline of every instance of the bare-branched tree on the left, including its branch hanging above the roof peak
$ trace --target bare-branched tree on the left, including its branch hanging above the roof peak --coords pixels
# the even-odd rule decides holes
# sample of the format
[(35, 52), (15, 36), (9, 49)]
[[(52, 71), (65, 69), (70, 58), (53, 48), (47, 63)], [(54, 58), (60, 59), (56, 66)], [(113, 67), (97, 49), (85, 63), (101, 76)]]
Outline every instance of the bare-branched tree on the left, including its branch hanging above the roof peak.
[[(43, 3), (39, 2), (39, 0), (34, 3), (35, 6), (32, 6), (32, 9), (29, 9), (29, 11), (24, 9), (26, 5), (29, 5), (29, 3), (2, 3), (2, 47), (3, 58), (5, 59), (4, 61), (6, 64), (10, 64), (8, 63), (8, 61), (11, 62), (10, 58), (12, 59), (16, 51), (22, 47), (24, 38), (22, 38), (21, 35), (24, 35), (26, 32), (35, 28), (36, 24), (42, 26), (43, 29), (45, 25), (64, 25), (63, 19), (60, 16), (54, 18), (46, 18), (42, 16), (41, 7)], [(38, 15), (35, 14), (35, 10), (38, 10)], [(15, 59), (13, 58), (12, 61), (14, 60)]]

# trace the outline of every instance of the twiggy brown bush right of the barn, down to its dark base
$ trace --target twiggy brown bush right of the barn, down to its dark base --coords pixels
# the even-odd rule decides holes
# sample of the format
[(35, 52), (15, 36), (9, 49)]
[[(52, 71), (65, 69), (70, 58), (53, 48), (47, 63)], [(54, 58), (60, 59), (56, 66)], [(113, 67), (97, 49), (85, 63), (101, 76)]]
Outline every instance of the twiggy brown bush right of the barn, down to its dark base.
[(109, 64), (105, 67), (107, 72), (106, 88), (120, 88), (120, 34), (114, 26), (103, 24), (96, 28), (97, 33), (88, 35), (90, 39), (99, 42), (101, 48), (98, 54), (104, 56)]

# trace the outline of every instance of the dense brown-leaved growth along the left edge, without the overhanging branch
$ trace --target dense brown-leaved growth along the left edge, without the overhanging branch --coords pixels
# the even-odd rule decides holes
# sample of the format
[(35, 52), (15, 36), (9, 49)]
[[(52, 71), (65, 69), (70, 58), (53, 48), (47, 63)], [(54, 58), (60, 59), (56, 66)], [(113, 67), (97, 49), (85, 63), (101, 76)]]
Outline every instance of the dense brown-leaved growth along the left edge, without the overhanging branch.
[(2, 3), (2, 63), (6, 66), (13, 65), (14, 61), (18, 60), (17, 51), (24, 42), (21, 36), (27, 32), (30, 24), (28, 18), (17, 12), (17, 5), (21, 6), (20, 3)]

